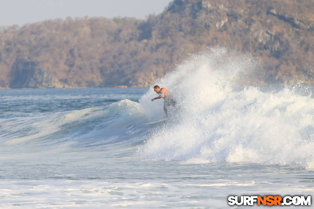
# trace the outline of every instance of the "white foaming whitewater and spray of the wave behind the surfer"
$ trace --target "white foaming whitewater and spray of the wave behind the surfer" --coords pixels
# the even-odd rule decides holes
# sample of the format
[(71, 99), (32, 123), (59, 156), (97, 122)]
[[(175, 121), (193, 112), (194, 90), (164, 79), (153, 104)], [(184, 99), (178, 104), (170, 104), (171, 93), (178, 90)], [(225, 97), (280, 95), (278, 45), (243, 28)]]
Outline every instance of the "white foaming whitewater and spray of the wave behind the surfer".
[[(182, 163), (314, 168), (314, 99), (309, 87), (241, 84), (261, 76), (259, 66), (251, 56), (214, 48), (193, 55), (156, 81), (175, 95), (180, 108), (168, 107), (169, 121), (153, 128), (137, 154)], [(148, 118), (164, 115), (162, 101), (150, 103), (155, 96), (150, 89), (140, 99)]]

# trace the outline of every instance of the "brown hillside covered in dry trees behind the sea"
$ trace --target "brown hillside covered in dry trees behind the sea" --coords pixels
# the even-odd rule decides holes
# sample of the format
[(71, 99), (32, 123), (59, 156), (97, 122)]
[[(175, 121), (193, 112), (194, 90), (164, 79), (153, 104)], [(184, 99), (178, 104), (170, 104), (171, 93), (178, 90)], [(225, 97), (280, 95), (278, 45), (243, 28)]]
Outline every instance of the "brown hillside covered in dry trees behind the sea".
[(149, 86), (189, 53), (227, 45), (261, 57), (263, 82), (314, 63), (314, 0), (174, 0), (160, 14), (67, 18), (0, 29), (0, 87)]

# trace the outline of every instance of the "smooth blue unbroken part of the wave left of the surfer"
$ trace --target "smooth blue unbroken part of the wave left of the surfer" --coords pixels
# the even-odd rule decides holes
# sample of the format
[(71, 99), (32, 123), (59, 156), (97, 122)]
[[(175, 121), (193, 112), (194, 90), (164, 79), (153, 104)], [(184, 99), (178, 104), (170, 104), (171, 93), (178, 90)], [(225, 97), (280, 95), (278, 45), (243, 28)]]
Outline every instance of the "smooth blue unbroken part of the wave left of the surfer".
[[(15, 150), (11, 153), (19, 154), (114, 148), (115, 143), (147, 133), (141, 129), (144, 121), (141, 105), (124, 99), (99, 108), (3, 119), (0, 143), (2, 153)], [(134, 140), (129, 140), (125, 146), (132, 143)]]

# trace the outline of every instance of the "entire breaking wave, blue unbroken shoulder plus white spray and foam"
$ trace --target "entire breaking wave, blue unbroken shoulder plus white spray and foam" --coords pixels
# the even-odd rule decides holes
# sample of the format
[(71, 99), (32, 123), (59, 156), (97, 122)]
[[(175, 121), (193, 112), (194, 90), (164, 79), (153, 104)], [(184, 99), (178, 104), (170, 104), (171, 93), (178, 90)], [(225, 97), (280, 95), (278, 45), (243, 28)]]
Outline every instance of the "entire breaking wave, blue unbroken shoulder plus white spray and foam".
[(136, 152), (148, 160), (313, 169), (310, 87), (246, 85), (263, 75), (260, 66), (254, 57), (226, 48), (192, 55), (155, 83), (179, 104), (168, 107), (169, 120), (160, 124), (143, 124), (165, 116), (163, 100), (151, 102), (157, 96), (152, 88), (139, 103), (124, 99), (104, 107), (1, 119), (0, 158), (71, 152), (121, 156), (131, 150), (128, 155)]

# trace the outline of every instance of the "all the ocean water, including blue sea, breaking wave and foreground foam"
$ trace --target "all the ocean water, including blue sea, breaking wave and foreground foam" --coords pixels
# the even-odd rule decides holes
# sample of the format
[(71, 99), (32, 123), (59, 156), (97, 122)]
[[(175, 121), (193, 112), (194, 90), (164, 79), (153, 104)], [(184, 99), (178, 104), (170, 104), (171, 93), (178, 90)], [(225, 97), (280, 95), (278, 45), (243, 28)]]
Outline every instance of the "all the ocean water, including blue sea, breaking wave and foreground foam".
[(312, 195), (314, 87), (245, 84), (261, 69), (224, 48), (192, 55), (156, 80), (179, 105), (152, 125), (165, 115), (152, 88), (0, 90), (0, 207), (242, 208), (228, 196)]

